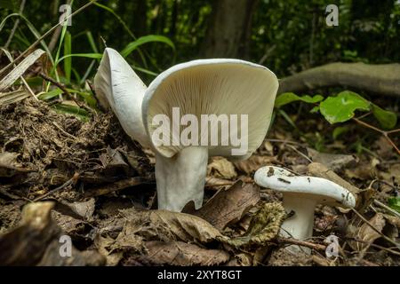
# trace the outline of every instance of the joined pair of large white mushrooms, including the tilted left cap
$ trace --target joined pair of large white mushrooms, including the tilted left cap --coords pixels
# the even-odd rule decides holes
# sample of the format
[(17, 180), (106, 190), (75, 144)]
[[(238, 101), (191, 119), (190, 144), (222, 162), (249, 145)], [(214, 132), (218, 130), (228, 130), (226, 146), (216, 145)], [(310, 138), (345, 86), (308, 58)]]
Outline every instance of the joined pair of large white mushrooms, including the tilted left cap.
[[(243, 160), (260, 146), (271, 121), (278, 81), (267, 67), (244, 60), (199, 59), (167, 69), (146, 88), (124, 58), (107, 48), (94, 87), (100, 104), (113, 110), (124, 131), (156, 152), (158, 209), (181, 211), (189, 201), (195, 202), (196, 209), (202, 206), (209, 156)], [(188, 145), (177, 137), (182, 121), (176, 128), (174, 109), (190, 115), (190, 123), (193, 119), (198, 122), (204, 114), (245, 117), (236, 128), (229, 124), (228, 138), (223, 135), (225, 126), (219, 129), (218, 123), (212, 125), (211, 130), (218, 130), (219, 145), (202, 143), (212, 139), (208, 131), (206, 135), (192, 132), (188, 139), (195, 143)], [(172, 118), (170, 145), (155, 143), (153, 119), (157, 114)], [(167, 130), (171, 130), (169, 125)], [(232, 138), (239, 136), (245, 136), (245, 143), (238, 149)]]

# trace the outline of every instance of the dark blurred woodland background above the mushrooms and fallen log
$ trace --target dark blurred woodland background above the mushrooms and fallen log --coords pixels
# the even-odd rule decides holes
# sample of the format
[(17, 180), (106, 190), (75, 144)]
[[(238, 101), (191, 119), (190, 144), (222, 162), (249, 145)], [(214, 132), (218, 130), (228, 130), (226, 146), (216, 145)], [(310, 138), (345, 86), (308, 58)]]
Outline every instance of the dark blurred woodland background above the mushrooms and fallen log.
[[(60, 5), (65, 2), (70, 3), (27, 1), (22, 13), (43, 35), (58, 22)], [(73, 1), (73, 11), (86, 2)], [(339, 27), (327, 27), (327, 4), (339, 6)], [(0, 6), (4, 20), (19, 12), (20, 0), (0, 0)], [(6, 42), (16, 19), (5, 21), (0, 45)], [(128, 56), (132, 64), (154, 73), (205, 57), (250, 59), (280, 77), (333, 61), (387, 63), (400, 59), (400, 3), (393, 0), (108, 0), (74, 17), (68, 31), (72, 53), (101, 53), (102, 39), (122, 51), (140, 36), (166, 36), (175, 51), (168, 44), (147, 43), (146, 64), (140, 52)], [(224, 36), (221, 44), (225, 41), (225, 46), (214, 46), (214, 38)], [(34, 40), (28, 26), (21, 23), (10, 49), (23, 51)], [(54, 45), (52, 37), (45, 41)], [(91, 59), (73, 61), (77, 73), (82, 74)], [(91, 72), (93, 75), (95, 68)], [(152, 75), (147, 76), (151, 80)]]

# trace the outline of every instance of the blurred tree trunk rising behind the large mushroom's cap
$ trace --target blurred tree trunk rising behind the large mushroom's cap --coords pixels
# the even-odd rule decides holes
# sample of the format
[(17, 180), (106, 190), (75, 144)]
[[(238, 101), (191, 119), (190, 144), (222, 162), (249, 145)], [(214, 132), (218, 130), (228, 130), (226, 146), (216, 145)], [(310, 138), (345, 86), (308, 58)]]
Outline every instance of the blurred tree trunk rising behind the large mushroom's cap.
[(248, 58), (252, 12), (258, 0), (218, 0), (202, 44), (204, 58)]

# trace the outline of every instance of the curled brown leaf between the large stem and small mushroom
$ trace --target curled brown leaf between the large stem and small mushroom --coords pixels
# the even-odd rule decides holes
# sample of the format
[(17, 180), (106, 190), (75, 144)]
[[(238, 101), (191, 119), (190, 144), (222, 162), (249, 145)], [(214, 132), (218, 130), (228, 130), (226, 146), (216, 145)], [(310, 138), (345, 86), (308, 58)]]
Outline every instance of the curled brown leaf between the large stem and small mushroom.
[(226, 225), (240, 218), (260, 201), (260, 189), (257, 185), (243, 185), (236, 182), (228, 190), (220, 190), (201, 209), (190, 212), (210, 222), (217, 229), (223, 230)]

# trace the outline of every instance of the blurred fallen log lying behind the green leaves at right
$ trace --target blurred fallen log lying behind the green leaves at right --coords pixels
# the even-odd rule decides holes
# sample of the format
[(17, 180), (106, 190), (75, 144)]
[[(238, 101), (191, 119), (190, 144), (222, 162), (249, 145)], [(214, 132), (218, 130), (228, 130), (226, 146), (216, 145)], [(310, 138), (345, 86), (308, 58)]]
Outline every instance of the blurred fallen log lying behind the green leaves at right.
[(400, 97), (400, 64), (331, 63), (279, 80), (278, 93), (335, 86)]

